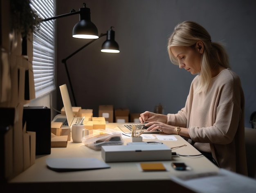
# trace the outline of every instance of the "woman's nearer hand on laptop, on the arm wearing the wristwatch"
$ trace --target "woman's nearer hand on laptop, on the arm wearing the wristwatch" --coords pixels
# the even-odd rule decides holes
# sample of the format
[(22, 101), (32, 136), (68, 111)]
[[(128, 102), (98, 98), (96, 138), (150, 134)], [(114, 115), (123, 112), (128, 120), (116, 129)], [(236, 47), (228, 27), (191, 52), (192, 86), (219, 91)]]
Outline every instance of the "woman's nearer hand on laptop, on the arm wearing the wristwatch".
[(145, 126), (148, 127), (148, 131), (162, 130), (166, 134), (177, 134), (177, 131), (175, 130), (176, 127), (167, 125), (162, 122), (153, 121), (146, 123)]

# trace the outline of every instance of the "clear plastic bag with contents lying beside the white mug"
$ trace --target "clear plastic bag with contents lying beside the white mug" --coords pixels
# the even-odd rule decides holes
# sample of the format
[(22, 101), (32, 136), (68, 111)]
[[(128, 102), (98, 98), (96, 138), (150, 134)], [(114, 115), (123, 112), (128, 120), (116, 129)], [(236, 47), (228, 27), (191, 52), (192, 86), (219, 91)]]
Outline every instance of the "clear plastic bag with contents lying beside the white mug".
[(124, 145), (120, 132), (108, 132), (107, 130), (93, 130), (93, 134), (83, 137), (83, 144), (94, 150), (101, 150), (101, 146)]

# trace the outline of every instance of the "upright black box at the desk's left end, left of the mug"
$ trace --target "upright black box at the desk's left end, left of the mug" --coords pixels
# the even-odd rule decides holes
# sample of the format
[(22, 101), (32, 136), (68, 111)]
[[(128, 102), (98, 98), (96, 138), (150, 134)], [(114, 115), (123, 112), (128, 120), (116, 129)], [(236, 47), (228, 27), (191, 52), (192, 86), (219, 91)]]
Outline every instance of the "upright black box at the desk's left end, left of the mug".
[(23, 127), (36, 132), (36, 155), (51, 154), (51, 109), (45, 106), (23, 108)]

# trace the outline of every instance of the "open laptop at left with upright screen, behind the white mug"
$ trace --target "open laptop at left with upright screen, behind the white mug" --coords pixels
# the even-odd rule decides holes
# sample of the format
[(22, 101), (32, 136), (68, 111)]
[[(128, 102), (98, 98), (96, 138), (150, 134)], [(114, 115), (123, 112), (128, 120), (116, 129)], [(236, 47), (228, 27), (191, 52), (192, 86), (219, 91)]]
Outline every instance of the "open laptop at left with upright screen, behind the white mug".
[(65, 114), (57, 114), (52, 122), (62, 122), (61, 128), (72, 128), (75, 123), (81, 123), (83, 117), (74, 117), (70, 96), (67, 90), (67, 85), (60, 85), (61, 98), (65, 109)]

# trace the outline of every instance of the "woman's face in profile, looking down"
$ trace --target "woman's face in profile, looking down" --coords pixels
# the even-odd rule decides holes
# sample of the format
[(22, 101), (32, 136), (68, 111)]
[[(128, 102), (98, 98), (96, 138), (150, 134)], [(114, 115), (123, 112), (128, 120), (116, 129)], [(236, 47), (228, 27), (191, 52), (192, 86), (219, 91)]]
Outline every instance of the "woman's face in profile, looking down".
[(200, 48), (197, 46), (195, 49), (186, 46), (173, 46), (171, 52), (179, 61), (180, 68), (184, 68), (193, 75), (200, 72), (202, 58)]

